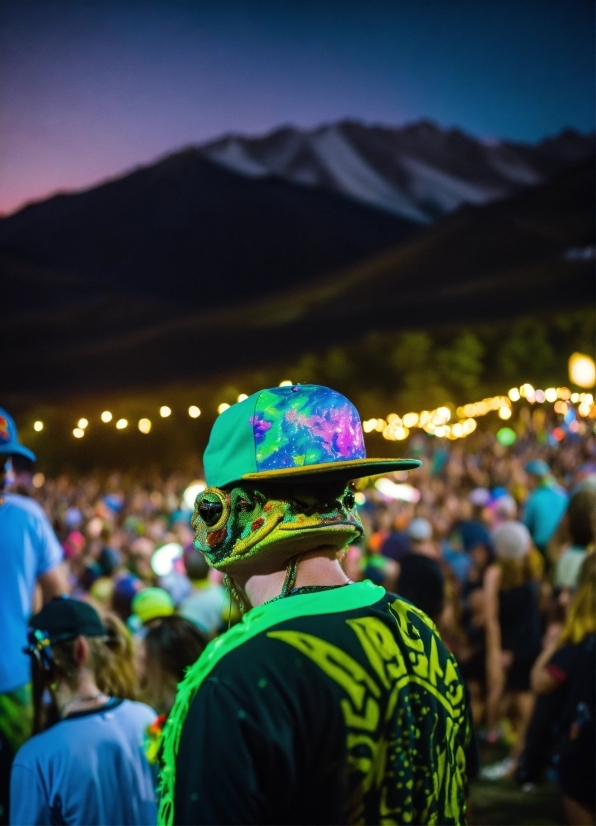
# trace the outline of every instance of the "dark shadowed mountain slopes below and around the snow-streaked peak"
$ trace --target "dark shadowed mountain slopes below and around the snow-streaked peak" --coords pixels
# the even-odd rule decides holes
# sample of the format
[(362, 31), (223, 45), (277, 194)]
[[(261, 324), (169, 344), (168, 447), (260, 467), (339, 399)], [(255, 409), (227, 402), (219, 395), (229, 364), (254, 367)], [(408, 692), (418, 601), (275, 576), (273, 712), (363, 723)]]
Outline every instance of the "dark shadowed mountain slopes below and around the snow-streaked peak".
[[(369, 129), (372, 144), (379, 130)], [(419, 134), (428, 129), (419, 125)], [(407, 130), (383, 131), (406, 145)], [(510, 191), (451, 203), (434, 223), (430, 211), (423, 221), (379, 209), (330, 181), (234, 171), (208, 156), (216, 144), (32, 204), (0, 220), (11, 353), (0, 386), (25, 399), (199, 381), (373, 330), (586, 304), (594, 263), (587, 142), (564, 133), (518, 147), (540, 183), (524, 182), (518, 167)], [(420, 138), (420, 163), (429, 166), (433, 145), (436, 169), (493, 186), (480, 142), (462, 133)], [(466, 149), (457, 163), (453, 151), (449, 166), (453, 145)]]

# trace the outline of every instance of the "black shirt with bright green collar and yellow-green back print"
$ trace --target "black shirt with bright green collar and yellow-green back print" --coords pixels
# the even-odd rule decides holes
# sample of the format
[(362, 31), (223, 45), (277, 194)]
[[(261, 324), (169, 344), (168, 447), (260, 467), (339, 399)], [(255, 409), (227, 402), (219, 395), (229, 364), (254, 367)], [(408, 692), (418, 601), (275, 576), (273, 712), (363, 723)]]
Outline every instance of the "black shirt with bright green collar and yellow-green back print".
[(160, 822), (466, 822), (455, 660), (370, 582), (253, 609), (182, 683)]

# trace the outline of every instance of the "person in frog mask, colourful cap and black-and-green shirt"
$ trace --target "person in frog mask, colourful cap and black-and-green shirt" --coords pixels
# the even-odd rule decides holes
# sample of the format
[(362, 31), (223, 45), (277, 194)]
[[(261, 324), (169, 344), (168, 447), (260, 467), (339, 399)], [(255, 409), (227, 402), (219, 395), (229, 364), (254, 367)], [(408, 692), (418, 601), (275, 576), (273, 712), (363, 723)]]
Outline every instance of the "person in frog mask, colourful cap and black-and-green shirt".
[(363, 529), (349, 481), (418, 467), (366, 457), (360, 418), (317, 385), (220, 415), (195, 546), (245, 612), (178, 689), (159, 822), (466, 822), (470, 721), (432, 622), (338, 552)]

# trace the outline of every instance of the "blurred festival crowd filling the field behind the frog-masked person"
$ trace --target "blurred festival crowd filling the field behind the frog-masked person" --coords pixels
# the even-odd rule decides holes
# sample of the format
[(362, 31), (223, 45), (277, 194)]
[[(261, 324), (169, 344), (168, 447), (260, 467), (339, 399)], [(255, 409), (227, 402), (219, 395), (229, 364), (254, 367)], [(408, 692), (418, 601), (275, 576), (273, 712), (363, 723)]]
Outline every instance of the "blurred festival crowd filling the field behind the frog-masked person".
[[(393, 474), (393, 487), (374, 479), (356, 485), (365, 535), (340, 552), (342, 567), (350, 580), (384, 586), (436, 624), (459, 664), (483, 753), (508, 749), (481, 776), (514, 777), (528, 792), (556, 782), (568, 822), (593, 823), (594, 434), (584, 427), (552, 439), (528, 422), (508, 447), (490, 432), (460, 442), (420, 434), (409, 451), (422, 466), (407, 478)], [(99, 752), (96, 776), (72, 781), (79, 796), (97, 782), (110, 786), (112, 801), (124, 801), (88, 812), (88, 822), (154, 822), (159, 736), (176, 686), (208, 641), (240, 619), (222, 574), (193, 545), (189, 491), (201, 488), (200, 469), (194, 479), (33, 474), (28, 457), (16, 455), (3, 506), (25, 500), (32, 529), (45, 532), (43, 558), (26, 574), (36, 583), (31, 739), (19, 711), (27, 707), (29, 676), (20, 673), (27, 660), (14, 655), (10, 673), (10, 660), (0, 661), (0, 773), (6, 778), (13, 763), (11, 822), (50, 822), (40, 815), (35, 772), (64, 738), (73, 742), (74, 725), (77, 748), (92, 748), (100, 719), (118, 728), (131, 757), (107, 771)], [(22, 607), (17, 580), (5, 578), (0, 594)], [(70, 599), (52, 600), (64, 593)], [(83, 607), (73, 612), (73, 604)], [(51, 667), (35, 628), (56, 629)], [(19, 651), (26, 644), (18, 624), (5, 634)], [(83, 648), (72, 642), (81, 635), (90, 639)], [(62, 718), (70, 713), (58, 721), (57, 709)], [(146, 763), (131, 747), (141, 736)], [(70, 822), (59, 809), (51, 822)], [(6, 822), (8, 811), (1, 817)]]

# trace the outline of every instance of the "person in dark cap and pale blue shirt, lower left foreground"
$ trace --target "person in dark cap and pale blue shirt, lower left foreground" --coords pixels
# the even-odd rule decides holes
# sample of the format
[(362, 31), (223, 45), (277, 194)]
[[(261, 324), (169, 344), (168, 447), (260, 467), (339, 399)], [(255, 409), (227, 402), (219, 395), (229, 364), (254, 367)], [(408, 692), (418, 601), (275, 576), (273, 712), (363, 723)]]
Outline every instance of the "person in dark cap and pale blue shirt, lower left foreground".
[[(97, 685), (108, 632), (88, 603), (63, 597), (31, 619), (29, 653), (36, 722), (44, 728), (17, 752), (10, 823), (154, 824), (154, 775), (145, 754), (155, 721), (143, 703)], [(51, 705), (43, 705), (49, 692)], [(47, 724), (57, 720), (47, 728)]]

